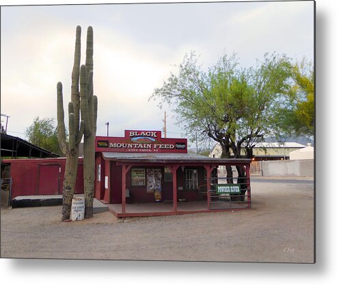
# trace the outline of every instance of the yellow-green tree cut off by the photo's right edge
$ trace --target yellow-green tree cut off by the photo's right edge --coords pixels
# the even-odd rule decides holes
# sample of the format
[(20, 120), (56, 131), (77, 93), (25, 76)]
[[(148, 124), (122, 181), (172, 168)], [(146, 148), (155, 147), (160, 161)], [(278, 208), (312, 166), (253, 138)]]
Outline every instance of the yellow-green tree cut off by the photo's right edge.
[(284, 134), (314, 136), (314, 71), (305, 58), (291, 69), (291, 87), (277, 117)]

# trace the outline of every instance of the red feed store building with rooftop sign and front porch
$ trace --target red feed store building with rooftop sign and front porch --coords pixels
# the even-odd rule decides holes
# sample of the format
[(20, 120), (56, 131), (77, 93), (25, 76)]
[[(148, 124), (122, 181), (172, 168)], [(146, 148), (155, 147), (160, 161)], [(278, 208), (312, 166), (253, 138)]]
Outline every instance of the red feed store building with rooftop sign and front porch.
[[(187, 153), (186, 139), (162, 138), (159, 131), (126, 130), (124, 137), (98, 136), (95, 197), (109, 203), (116, 216), (250, 208), (250, 162)], [(245, 195), (246, 201), (232, 201), (229, 192), (219, 194), (219, 182), (227, 183), (224, 177), (217, 178), (219, 165), (245, 170), (239, 195)]]

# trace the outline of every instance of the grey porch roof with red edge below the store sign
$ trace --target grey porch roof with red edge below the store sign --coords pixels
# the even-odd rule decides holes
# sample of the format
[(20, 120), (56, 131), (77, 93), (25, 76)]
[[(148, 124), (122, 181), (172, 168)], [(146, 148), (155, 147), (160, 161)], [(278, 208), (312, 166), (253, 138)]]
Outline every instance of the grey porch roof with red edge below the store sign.
[(196, 153), (120, 153), (103, 152), (105, 160), (118, 162), (144, 162), (144, 163), (198, 163), (198, 164), (247, 164), (250, 159), (221, 159), (208, 158)]

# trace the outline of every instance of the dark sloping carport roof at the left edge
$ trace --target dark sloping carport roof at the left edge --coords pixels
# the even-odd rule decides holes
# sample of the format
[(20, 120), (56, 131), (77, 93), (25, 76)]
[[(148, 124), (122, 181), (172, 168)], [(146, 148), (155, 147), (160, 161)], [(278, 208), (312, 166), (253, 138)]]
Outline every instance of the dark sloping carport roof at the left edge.
[(1, 158), (58, 158), (53, 153), (37, 145), (9, 134), (1, 133)]

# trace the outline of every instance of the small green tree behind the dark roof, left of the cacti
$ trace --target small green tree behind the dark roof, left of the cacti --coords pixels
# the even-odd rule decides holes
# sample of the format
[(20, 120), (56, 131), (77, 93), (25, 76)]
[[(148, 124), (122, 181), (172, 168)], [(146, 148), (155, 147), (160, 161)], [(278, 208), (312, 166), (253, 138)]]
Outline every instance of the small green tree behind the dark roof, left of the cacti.
[(62, 154), (57, 140), (57, 127), (53, 118), (40, 119), (38, 116), (33, 123), (27, 127), (26, 135), (28, 141), (53, 153)]

